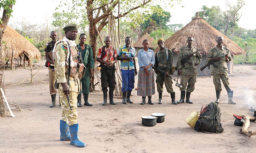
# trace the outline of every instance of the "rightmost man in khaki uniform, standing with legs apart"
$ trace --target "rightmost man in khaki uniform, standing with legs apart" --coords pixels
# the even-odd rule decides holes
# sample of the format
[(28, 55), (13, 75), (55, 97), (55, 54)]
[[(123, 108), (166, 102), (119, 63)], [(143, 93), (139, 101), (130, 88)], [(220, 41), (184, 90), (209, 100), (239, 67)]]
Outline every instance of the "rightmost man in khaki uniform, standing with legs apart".
[[(223, 82), (224, 87), (228, 92), (228, 103), (229, 104), (236, 104), (233, 101), (233, 90), (229, 87), (228, 81), (228, 67), (227, 63), (232, 60), (230, 52), (227, 47), (222, 46), (223, 44), (223, 37), (219, 36), (217, 39), (217, 45), (211, 48), (208, 56), (207, 62), (211, 62), (217, 60), (215, 64), (218, 66), (217, 68), (212, 66), (212, 75), (213, 75), (213, 84), (216, 90), (216, 102), (219, 102), (219, 97), (221, 96), (221, 80)], [(228, 54), (228, 55), (226, 55)], [(224, 58), (220, 56), (226, 55)]]

